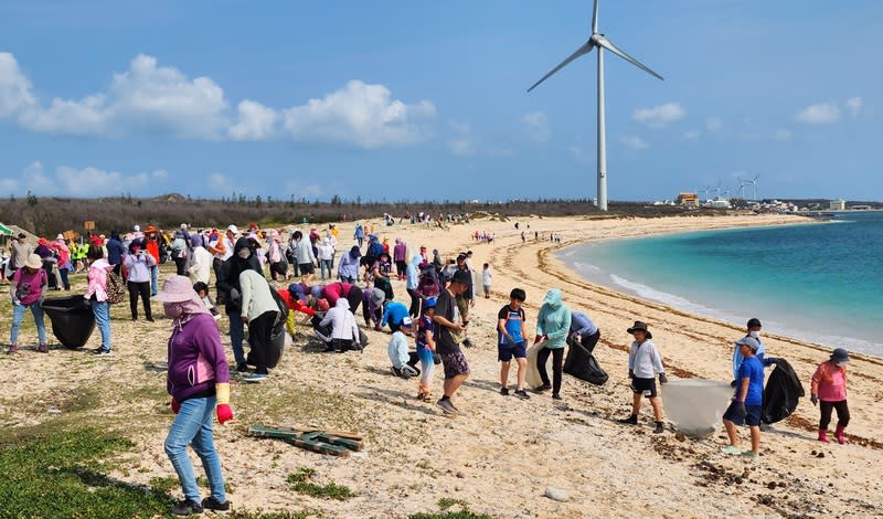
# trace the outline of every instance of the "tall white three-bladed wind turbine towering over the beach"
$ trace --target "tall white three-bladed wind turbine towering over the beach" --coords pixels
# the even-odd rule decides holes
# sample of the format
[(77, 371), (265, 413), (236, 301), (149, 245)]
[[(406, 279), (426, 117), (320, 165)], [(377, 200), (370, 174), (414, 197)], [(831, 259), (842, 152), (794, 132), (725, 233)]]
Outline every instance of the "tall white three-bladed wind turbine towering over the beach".
[(552, 68), (540, 81), (534, 83), (533, 86), (528, 88), (528, 92), (536, 88), (540, 83), (546, 81), (552, 74), (564, 68), (583, 54), (588, 54), (592, 52), (592, 49), (595, 47), (598, 49), (598, 210), (607, 211), (607, 129), (605, 127), (604, 114), (604, 51), (608, 50), (613, 52), (623, 60), (626, 60), (659, 80), (662, 80), (662, 76), (651, 71), (638, 60), (626, 54), (623, 50), (614, 45), (613, 42), (607, 40), (604, 34), (598, 33), (598, 0), (595, 0), (595, 7), (592, 11), (592, 35), (588, 38), (588, 41), (577, 49), (576, 52), (567, 56), (566, 60), (561, 62), (558, 66)]

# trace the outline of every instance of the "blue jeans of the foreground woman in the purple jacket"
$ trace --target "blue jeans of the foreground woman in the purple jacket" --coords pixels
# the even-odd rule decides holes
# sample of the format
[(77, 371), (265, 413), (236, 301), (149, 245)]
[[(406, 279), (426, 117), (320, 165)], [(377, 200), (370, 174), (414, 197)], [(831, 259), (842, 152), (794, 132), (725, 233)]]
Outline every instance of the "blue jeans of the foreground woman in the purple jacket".
[(196, 486), (196, 475), (193, 464), (187, 456), (187, 446), (191, 445), (193, 452), (202, 459), (202, 468), (209, 478), (209, 488), (212, 497), (217, 502), (226, 502), (224, 494), (224, 476), (221, 474), (221, 458), (214, 449), (212, 442), (212, 412), (214, 411), (214, 396), (202, 399), (188, 399), (181, 402), (181, 411), (169, 428), (166, 436), (166, 454), (172, 462), (181, 490), (184, 497), (193, 502), (201, 502), (200, 487)]

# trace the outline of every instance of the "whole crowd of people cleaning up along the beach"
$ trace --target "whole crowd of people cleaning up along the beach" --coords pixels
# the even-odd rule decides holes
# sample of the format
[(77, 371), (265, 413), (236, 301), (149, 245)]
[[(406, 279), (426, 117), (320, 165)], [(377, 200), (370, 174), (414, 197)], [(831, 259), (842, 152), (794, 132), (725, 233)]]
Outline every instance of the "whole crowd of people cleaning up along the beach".
[[(417, 223), (425, 223), (427, 218), (408, 216)], [(386, 223), (390, 221), (387, 216)], [(493, 235), (477, 231), (474, 239), (489, 242)], [(296, 331), (296, 313), (311, 318), (315, 337), (325, 351), (344, 353), (365, 347), (366, 338), (357, 318), (361, 306), (365, 328), (391, 333), (387, 345), (391, 372), (405, 379), (416, 378), (419, 401), (435, 401), (447, 415), (462, 413), (455, 405), (455, 398), (471, 373), (464, 348), (475, 346), (468, 330), (479, 290), (485, 298), (492, 295), (490, 265), (485, 263), (480, 269), (475, 268), (470, 251), (444, 262), (437, 248), (428, 253), (425, 245), (412, 247), (402, 239), (391, 244), (373, 225), (361, 222), (355, 225), (352, 245), (343, 245), (347, 240), (333, 224), (322, 231), (311, 226), (290, 232), (263, 230), (256, 224), (242, 232), (236, 225), (217, 230), (181, 224), (172, 233), (163, 233), (152, 224), (143, 231), (134, 225), (125, 233), (110, 231), (109, 237), (89, 235), (83, 243), (58, 235), (53, 242), (39, 239), (35, 245), (22, 234), (10, 244), (3, 268), (13, 304), (8, 352), (19, 351), (19, 328), (29, 310), (38, 328), (36, 351), (49, 352), (41, 303), (45, 290), (70, 290), (71, 274), (87, 272), (84, 304), (92, 308), (102, 336), (100, 346), (94, 350), (96, 356), (109, 356), (113, 351), (109, 305), (115, 290), (120, 289), (117, 277), (125, 280), (132, 320), (139, 319), (139, 300), (147, 321), (153, 321), (151, 297), (160, 301), (164, 316), (172, 319), (168, 391), (177, 414), (166, 439), (166, 452), (184, 494), (184, 500), (173, 512), (225, 510), (230, 504), (212, 443), (212, 413), (222, 424), (233, 419), (231, 371), (240, 373), (247, 383), (267, 381), (269, 370), (278, 361), (280, 337)], [(343, 252), (339, 254), (340, 246)], [(174, 263), (175, 274), (164, 279), (160, 290), (159, 265), (167, 261)], [(396, 300), (393, 280), (404, 282), (407, 299), (400, 299), (406, 303)], [(552, 399), (562, 400), (565, 348), (579, 347), (591, 354), (600, 330), (585, 313), (572, 311), (557, 288), (547, 290), (532, 326), (523, 307), (526, 292), (512, 288), (508, 299), (496, 321), (500, 394), (526, 401), (531, 399), (529, 391), (534, 395), (551, 391)], [(221, 341), (219, 306), (224, 307), (227, 317), (231, 364)], [(734, 393), (723, 416), (730, 439), (724, 452), (749, 458), (759, 455), (764, 368), (779, 362), (766, 356), (760, 328), (758, 319), (751, 319), (745, 337), (734, 343)], [(668, 383), (662, 357), (646, 322), (637, 320), (625, 331), (632, 338), (627, 367), (632, 399), (631, 413), (619, 422), (637, 425), (641, 403), (647, 399), (653, 413), (653, 433), (661, 434), (664, 414), (657, 380), (660, 384)], [(531, 348), (540, 379), (534, 386), (526, 380)], [(546, 367), (550, 357), (551, 377)], [(517, 373), (510, 393), (513, 359)], [(811, 402), (820, 406), (821, 415), (820, 442), (828, 442), (833, 411), (838, 413), (834, 438), (845, 442), (848, 361), (849, 353), (837, 349), (812, 377)], [(436, 366), (444, 372), (437, 400)], [(749, 428), (748, 451), (738, 447), (740, 425)], [(209, 477), (211, 495), (203, 500), (185, 453), (188, 445), (201, 458)]]

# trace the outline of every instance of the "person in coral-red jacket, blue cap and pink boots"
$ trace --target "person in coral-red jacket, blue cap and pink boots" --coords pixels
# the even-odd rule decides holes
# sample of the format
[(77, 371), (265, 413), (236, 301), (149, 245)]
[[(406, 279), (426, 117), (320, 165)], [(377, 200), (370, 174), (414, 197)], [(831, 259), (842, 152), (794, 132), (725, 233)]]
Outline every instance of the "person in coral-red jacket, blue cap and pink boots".
[(837, 443), (844, 444), (847, 438), (843, 431), (849, 425), (849, 406), (847, 405), (847, 364), (849, 352), (837, 348), (830, 359), (819, 364), (812, 374), (810, 402), (819, 405), (819, 442), (828, 443), (828, 424), (831, 423), (831, 412), (837, 410)]

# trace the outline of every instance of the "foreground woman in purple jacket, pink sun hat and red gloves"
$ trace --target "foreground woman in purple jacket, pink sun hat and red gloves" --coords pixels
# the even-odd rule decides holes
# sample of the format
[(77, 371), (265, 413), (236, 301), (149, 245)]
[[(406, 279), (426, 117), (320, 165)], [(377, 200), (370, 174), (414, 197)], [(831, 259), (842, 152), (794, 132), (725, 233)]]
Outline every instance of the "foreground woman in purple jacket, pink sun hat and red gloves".
[[(178, 473), (184, 500), (171, 511), (177, 516), (190, 516), (201, 513), (205, 508), (228, 510), (221, 459), (212, 441), (212, 411), (216, 407), (217, 422), (222, 425), (233, 420), (230, 367), (217, 325), (193, 292), (188, 277), (167, 279), (157, 299), (162, 301), (166, 317), (173, 319), (166, 386), (177, 416), (166, 437), (166, 454)], [(209, 478), (211, 496), (202, 501), (193, 464), (187, 455), (188, 445), (202, 460)]]

